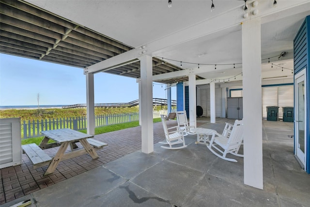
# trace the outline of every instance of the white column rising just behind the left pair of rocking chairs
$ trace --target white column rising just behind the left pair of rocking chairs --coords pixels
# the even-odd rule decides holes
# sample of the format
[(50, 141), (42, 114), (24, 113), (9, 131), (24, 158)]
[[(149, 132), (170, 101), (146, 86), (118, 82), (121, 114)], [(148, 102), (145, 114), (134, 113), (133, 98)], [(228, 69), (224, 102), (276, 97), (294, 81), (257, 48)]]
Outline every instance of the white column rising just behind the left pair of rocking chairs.
[(196, 75), (188, 75), (189, 121), (190, 126), (197, 127), (196, 113)]

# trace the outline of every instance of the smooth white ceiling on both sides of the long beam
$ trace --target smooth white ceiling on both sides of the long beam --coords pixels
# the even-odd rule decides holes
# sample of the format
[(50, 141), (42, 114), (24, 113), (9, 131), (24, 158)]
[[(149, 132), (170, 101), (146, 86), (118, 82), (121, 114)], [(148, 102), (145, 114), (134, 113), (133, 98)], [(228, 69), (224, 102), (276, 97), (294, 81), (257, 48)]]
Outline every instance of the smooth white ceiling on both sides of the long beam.
[[(211, 0), (172, 0), (171, 8), (167, 6), (168, 0), (27, 1), (135, 48), (171, 34), (175, 34), (177, 38), (179, 31), (201, 22), (210, 22), (207, 24), (210, 27), (215, 23), (222, 24), (223, 22), (214, 22), (219, 17), (225, 17), (221, 18), (224, 19), (222, 21), (247, 20), (242, 18), (243, 0), (214, 0), (213, 12), (210, 11)], [(286, 57), (280, 60), (275, 57), (270, 62), (293, 69), (293, 40), (305, 17), (310, 15), (310, 0), (278, 0), (276, 8), (272, 7), (273, 0), (258, 0), (259, 6), (256, 8), (251, 7), (252, 2), (248, 0), (250, 12), (257, 8), (262, 17), (262, 58), (279, 56), (282, 51), (288, 51)], [(199, 34), (201, 31), (196, 29), (191, 32)], [(183, 63), (185, 69), (197, 68), (198, 64), (242, 63), (241, 40), (241, 25), (234, 24), (182, 44), (160, 49), (155, 55), (197, 63)], [(291, 60), (285, 60), (286, 58)], [(177, 66), (180, 64), (169, 62)], [(268, 60), (263, 61), (267, 62)], [(214, 66), (201, 65), (203, 73), (199, 75), (207, 79), (234, 77), (242, 72), (241, 65), (235, 66), (236, 69), (232, 65), (219, 65), (215, 71)], [(284, 69), (282, 72), (281, 67), (276, 69), (277, 67), (271, 68), (271, 64), (262, 64), (262, 78), (292, 77), (291, 70)]]

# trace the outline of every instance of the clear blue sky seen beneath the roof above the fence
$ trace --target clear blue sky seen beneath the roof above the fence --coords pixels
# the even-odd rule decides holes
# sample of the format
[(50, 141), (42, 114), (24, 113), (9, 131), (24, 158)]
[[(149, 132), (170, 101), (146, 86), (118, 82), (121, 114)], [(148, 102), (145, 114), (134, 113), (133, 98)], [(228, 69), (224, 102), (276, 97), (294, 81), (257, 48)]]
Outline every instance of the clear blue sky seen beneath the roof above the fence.
[[(95, 103), (121, 103), (139, 98), (136, 79), (108, 73), (94, 75)], [(82, 68), (0, 54), (0, 106), (86, 103)], [(176, 99), (175, 87), (171, 98)], [(165, 85), (154, 84), (153, 97), (166, 98)]]

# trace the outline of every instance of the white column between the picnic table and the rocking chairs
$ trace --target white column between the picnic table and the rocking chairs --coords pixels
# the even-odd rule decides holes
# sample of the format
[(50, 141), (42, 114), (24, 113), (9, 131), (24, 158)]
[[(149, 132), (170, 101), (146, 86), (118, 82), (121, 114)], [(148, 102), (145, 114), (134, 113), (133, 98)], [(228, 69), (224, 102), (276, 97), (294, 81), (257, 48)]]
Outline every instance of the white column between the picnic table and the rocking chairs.
[(152, 57), (140, 57), (141, 76), (141, 139), (143, 153), (154, 151), (153, 139), (153, 65)]

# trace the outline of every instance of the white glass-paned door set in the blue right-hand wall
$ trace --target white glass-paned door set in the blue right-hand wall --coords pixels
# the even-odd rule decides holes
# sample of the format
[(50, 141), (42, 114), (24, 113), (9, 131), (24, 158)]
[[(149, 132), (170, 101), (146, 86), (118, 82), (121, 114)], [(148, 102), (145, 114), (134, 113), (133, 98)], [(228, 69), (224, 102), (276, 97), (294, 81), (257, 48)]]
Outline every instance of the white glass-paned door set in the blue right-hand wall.
[[(306, 163), (306, 78), (305, 69), (295, 75), (295, 154), (305, 166)], [(306, 168), (305, 168), (306, 169)]]

